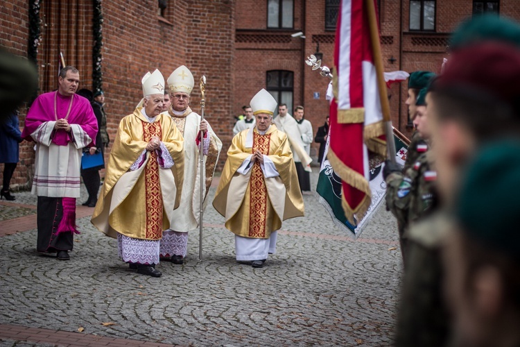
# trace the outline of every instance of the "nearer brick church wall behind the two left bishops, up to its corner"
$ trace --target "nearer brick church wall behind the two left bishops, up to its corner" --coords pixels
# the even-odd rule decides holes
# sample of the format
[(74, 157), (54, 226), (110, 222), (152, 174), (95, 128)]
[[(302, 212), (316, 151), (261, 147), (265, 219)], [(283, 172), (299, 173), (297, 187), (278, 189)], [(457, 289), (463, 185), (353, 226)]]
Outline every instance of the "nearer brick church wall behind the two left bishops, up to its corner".
[[(45, 6), (47, 6), (45, 8)], [(51, 35), (70, 13), (75, 25), (60, 35)], [(42, 37), (38, 55), (41, 92), (56, 86), (57, 67), (47, 51), (60, 46), (67, 64), (80, 69), (80, 87), (92, 89), (92, 7), (86, 1), (42, 1)], [(9, 1), (0, 7), (0, 44), (26, 56), (28, 40), (26, 1)], [(50, 10), (53, 8), (54, 10)], [(60, 11), (56, 10), (62, 8)], [(47, 9), (47, 10), (46, 10)], [(142, 97), (141, 77), (158, 68), (165, 79), (180, 65), (187, 65), (196, 78), (192, 106), (200, 110), (198, 79), (208, 77), (207, 114), (212, 126), (225, 135), (221, 124), (232, 113), (234, 76), (234, 1), (168, 1), (164, 18), (157, 15), (157, 1), (103, 1), (103, 90), (107, 127), (114, 139), (119, 121), (130, 114)], [(46, 25), (46, 26), (45, 26)], [(55, 30), (54, 30), (55, 29)], [(46, 39), (51, 39), (47, 40)], [(85, 43), (86, 42), (86, 43)], [(49, 59), (45, 58), (49, 56)], [(41, 63), (40, 63), (41, 60)], [(50, 72), (46, 72), (50, 71)], [(23, 126), (25, 110), (20, 117)], [(230, 139), (229, 139), (230, 140)], [(229, 141), (228, 141), (229, 142)], [(229, 144), (228, 144), (229, 146)], [(32, 180), (34, 151), (22, 142), (20, 162), (12, 187), (28, 187)], [(227, 150), (225, 147), (224, 152)], [(225, 155), (220, 161), (225, 160)], [(0, 164), (0, 178), (3, 165)]]

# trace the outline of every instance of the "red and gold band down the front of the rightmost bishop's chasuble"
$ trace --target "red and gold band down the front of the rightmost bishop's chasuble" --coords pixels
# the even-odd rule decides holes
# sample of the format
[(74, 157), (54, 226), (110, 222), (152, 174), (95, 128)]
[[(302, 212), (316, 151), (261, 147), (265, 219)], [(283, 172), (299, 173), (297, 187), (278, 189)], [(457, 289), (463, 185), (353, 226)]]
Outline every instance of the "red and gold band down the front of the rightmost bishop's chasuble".
[[(260, 135), (253, 133), (253, 153), (259, 151), (263, 155), (269, 154), (269, 142), (271, 135)], [(266, 237), (267, 217), (267, 189), (263, 180), (263, 172), (260, 162), (256, 160), (253, 164), (250, 179), (250, 219), (249, 237)]]

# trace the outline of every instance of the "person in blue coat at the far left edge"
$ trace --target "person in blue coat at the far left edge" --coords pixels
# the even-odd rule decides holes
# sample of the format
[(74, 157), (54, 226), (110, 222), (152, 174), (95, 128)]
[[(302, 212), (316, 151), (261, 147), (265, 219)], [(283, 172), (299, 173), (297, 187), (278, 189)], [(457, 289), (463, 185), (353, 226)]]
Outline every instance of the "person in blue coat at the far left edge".
[(0, 123), (0, 162), (3, 162), (3, 186), (0, 191), (0, 199), (15, 200), (9, 192), (9, 183), (12, 173), (15, 172), (19, 160), (19, 146), (21, 131), (18, 123), (18, 111)]

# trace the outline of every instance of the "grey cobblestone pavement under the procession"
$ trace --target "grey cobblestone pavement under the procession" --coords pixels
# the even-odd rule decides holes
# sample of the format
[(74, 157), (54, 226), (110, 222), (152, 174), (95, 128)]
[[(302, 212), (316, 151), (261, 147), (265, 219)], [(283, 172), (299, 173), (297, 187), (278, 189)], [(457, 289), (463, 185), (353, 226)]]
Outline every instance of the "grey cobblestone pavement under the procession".
[[(17, 203), (35, 201), (17, 193)], [(128, 269), (90, 217), (78, 219), (69, 262), (38, 255), (36, 230), (1, 237), (0, 325), (182, 346), (392, 344), (402, 273), (395, 219), (381, 208), (353, 242), (314, 196), (304, 202), (306, 217), (284, 222), (262, 269), (235, 262), (234, 235), (211, 203), (203, 261), (196, 230), (185, 264), (161, 262), (161, 278)], [(0, 346), (53, 344), (0, 332)]]

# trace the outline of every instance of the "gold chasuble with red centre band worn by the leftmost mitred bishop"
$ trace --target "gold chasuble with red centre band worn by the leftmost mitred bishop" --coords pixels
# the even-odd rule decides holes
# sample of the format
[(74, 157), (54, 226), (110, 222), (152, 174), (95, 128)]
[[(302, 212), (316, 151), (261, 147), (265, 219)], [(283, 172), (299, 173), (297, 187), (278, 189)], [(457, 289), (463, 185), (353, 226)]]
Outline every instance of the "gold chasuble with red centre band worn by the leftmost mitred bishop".
[[(161, 167), (157, 153), (146, 151), (144, 164), (131, 170), (154, 136), (170, 153), (173, 167)], [(121, 233), (135, 239), (161, 239), (179, 206), (183, 173), (183, 138), (171, 117), (158, 115), (150, 123), (137, 108), (119, 123), (91, 222), (110, 237)]]

